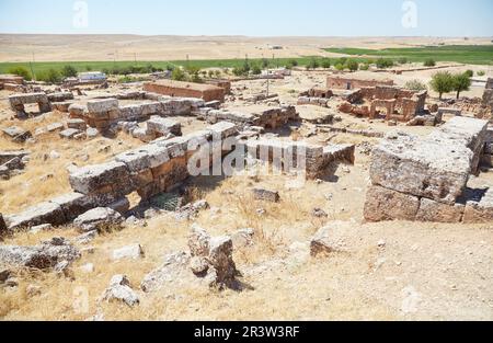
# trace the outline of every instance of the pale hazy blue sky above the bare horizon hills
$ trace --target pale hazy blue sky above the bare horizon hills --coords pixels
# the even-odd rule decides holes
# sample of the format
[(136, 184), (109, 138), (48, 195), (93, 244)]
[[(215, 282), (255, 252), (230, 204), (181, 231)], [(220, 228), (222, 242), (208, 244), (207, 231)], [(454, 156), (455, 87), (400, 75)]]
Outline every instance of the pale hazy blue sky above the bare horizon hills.
[(0, 33), (492, 36), (493, 0), (0, 0)]

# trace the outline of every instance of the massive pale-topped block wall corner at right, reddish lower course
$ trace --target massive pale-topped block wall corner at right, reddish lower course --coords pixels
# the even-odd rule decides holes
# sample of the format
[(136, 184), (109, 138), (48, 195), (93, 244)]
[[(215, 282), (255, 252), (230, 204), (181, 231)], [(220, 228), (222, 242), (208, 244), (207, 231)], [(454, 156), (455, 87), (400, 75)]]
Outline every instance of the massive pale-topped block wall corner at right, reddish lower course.
[(374, 149), (365, 219), (492, 221), (492, 192), (467, 188), (486, 128), (488, 122), (455, 117), (427, 137), (388, 135)]

